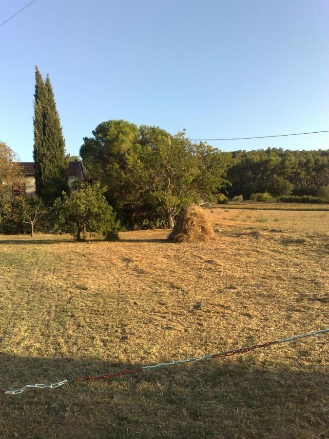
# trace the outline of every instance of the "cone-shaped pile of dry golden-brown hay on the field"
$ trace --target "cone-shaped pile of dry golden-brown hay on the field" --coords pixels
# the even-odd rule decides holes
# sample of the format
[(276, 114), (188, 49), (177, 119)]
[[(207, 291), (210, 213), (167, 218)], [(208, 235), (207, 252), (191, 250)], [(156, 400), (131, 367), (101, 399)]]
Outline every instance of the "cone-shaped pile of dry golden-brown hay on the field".
[(215, 239), (213, 227), (205, 211), (196, 204), (192, 204), (183, 211), (168, 237), (168, 240), (175, 242), (209, 241), (211, 239)]

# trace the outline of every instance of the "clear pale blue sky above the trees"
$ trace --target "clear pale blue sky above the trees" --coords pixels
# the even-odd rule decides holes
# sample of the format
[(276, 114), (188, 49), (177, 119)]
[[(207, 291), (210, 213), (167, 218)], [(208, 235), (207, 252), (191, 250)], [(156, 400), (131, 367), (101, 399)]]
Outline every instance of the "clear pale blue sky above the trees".
[[(0, 22), (30, 0), (1, 0)], [(188, 137), (329, 129), (328, 0), (36, 0), (0, 27), (0, 140), (32, 160), (35, 65), (66, 149), (125, 119)], [(209, 142), (327, 149), (329, 133)]]

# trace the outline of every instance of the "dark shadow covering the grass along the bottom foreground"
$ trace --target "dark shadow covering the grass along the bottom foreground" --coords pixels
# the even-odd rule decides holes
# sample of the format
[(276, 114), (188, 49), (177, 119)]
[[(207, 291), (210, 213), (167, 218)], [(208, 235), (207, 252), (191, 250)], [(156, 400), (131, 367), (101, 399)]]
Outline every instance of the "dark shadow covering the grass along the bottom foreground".
[[(274, 366), (261, 365), (248, 354), (53, 390), (28, 389), (18, 396), (0, 394), (1, 437), (327, 437), (325, 371), (320, 366), (300, 371)], [(0, 354), (0, 387), (131, 367), (136, 366), (97, 358)]]

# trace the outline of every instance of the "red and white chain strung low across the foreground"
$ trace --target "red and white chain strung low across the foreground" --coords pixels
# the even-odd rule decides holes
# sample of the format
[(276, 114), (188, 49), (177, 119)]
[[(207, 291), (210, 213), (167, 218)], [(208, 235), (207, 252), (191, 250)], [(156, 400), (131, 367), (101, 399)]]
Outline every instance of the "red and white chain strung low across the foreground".
[(136, 374), (138, 372), (146, 372), (148, 370), (158, 369), (160, 367), (174, 366), (176, 364), (193, 363), (193, 362), (200, 361), (203, 359), (222, 358), (222, 357), (230, 357), (230, 356), (236, 355), (236, 354), (245, 354), (246, 352), (252, 351), (253, 349), (266, 348), (266, 347), (272, 346), (274, 344), (286, 343), (288, 341), (304, 339), (306, 337), (314, 337), (314, 336), (318, 336), (321, 334), (325, 334), (327, 332), (329, 332), (329, 328), (320, 329), (318, 331), (312, 331), (312, 332), (309, 332), (307, 334), (298, 334), (298, 335), (294, 335), (291, 337), (286, 337), (285, 339), (277, 339), (274, 341), (267, 341), (267, 342), (262, 343), (262, 344), (254, 344), (252, 346), (244, 347), (241, 349), (233, 349), (231, 351), (219, 352), (217, 354), (203, 355), (202, 357), (196, 357), (196, 358), (179, 359), (179, 360), (170, 361), (168, 363), (158, 363), (158, 364), (154, 364), (151, 366), (139, 367), (139, 368), (134, 369), (134, 370), (124, 369), (124, 370), (121, 370), (120, 372), (117, 372), (116, 374), (104, 374), (104, 375), (97, 375), (94, 377), (90, 376), (90, 375), (84, 375), (81, 377), (77, 377), (75, 379), (65, 379), (63, 381), (54, 382), (53, 384), (39, 384), (39, 383), (37, 383), (37, 384), (27, 384), (27, 385), (21, 387), (20, 389), (13, 389), (13, 390), (0, 389), (0, 393), (6, 394), (6, 395), (19, 395), (20, 393), (23, 393), (24, 390), (29, 389), (29, 388), (55, 389), (56, 387), (60, 387), (64, 384), (75, 384), (78, 381), (86, 381), (86, 380), (90, 381), (90, 380), (98, 380), (98, 379), (112, 379), (115, 377), (123, 377), (124, 375)]

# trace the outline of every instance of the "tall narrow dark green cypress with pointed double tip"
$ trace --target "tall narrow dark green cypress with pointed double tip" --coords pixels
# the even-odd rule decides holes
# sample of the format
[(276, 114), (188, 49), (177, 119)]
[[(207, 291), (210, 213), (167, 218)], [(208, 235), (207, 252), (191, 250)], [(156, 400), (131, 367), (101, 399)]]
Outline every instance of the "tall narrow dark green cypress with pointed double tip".
[(65, 141), (49, 75), (44, 81), (37, 66), (34, 99), (36, 194), (46, 204), (52, 204), (62, 191), (68, 191)]

